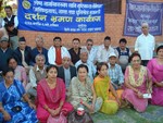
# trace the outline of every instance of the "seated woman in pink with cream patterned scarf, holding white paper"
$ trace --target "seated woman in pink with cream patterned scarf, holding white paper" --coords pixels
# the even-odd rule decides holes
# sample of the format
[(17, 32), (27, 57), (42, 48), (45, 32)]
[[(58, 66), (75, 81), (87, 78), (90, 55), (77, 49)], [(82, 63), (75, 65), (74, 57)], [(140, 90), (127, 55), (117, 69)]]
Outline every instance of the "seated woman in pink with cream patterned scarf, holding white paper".
[(151, 74), (146, 66), (140, 65), (139, 53), (134, 52), (129, 63), (125, 71), (125, 89), (122, 97), (138, 112), (143, 112), (148, 106), (148, 98), (145, 98), (143, 94), (151, 94)]

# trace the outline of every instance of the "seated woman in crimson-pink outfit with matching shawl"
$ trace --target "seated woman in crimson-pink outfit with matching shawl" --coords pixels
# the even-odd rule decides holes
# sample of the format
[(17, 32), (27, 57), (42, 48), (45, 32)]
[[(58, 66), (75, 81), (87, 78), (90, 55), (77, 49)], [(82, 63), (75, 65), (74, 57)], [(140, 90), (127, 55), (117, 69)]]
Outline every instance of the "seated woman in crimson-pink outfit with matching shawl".
[(58, 78), (58, 66), (47, 66), (47, 78), (37, 85), (37, 118), (41, 123), (47, 123), (49, 115), (57, 116), (60, 113), (67, 115), (73, 111), (73, 106), (65, 102), (65, 85)]

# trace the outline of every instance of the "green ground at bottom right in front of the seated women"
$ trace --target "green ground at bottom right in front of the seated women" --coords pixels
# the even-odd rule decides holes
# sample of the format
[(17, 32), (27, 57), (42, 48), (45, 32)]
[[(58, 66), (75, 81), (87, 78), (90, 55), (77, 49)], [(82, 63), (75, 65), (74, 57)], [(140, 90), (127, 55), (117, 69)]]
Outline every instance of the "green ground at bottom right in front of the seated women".
[(125, 108), (115, 115), (96, 113), (92, 119), (95, 123), (163, 123), (163, 107), (149, 106), (145, 113)]

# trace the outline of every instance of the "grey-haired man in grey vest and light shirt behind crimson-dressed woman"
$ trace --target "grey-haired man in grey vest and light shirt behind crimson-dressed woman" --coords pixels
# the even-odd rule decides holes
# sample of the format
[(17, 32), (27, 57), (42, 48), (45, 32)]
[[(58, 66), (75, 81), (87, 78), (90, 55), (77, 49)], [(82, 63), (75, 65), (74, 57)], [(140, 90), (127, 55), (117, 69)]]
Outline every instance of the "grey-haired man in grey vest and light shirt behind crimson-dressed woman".
[(43, 54), (36, 56), (36, 64), (29, 71), (29, 84), (27, 85), (26, 89), (29, 95), (37, 96), (36, 87), (40, 79), (46, 78), (46, 58)]

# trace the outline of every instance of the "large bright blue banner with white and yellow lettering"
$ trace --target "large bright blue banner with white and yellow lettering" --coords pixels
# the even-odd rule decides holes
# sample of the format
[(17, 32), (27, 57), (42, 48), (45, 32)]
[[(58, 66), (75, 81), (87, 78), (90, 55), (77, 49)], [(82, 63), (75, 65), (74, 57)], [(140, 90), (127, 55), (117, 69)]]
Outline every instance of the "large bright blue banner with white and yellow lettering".
[(18, 29), (58, 33), (104, 32), (104, 7), (55, 0), (20, 0)]

